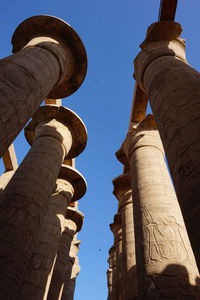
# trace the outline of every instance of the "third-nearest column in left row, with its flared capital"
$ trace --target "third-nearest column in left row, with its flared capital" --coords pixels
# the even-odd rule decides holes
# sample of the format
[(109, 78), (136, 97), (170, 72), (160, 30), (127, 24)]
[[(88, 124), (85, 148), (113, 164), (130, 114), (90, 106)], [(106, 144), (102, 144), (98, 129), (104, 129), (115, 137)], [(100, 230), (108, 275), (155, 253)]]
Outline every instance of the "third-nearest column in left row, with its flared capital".
[(70, 166), (62, 165), (56, 184), (56, 191), (50, 197), (48, 213), (34, 244), (18, 299), (47, 298), (67, 207), (70, 201), (77, 201), (86, 192), (85, 179)]

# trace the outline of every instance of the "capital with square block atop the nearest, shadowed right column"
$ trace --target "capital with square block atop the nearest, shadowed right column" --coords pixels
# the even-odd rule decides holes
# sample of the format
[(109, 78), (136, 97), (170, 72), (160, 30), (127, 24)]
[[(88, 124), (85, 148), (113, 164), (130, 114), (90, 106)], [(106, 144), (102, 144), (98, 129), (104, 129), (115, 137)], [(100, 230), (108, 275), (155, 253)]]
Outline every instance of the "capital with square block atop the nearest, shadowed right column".
[(149, 26), (146, 38), (140, 45), (142, 51), (134, 60), (134, 77), (143, 91), (145, 71), (154, 60), (174, 56), (187, 63), (185, 41), (180, 38), (181, 32), (181, 25), (172, 21), (160, 21)]

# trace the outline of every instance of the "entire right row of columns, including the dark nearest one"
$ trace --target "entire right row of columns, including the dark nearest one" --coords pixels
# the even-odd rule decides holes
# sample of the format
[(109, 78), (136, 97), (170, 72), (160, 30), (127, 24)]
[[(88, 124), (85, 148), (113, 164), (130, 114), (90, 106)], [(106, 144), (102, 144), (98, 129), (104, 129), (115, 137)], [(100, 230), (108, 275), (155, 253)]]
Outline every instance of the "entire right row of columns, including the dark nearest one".
[[(114, 195), (119, 200), (117, 216), (121, 217), (115, 227), (119, 232), (121, 226), (124, 245), (122, 269), (126, 271), (121, 284), (125, 292), (119, 291), (121, 261), (116, 231), (112, 230), (114, 244), (109, 250), (107, 271), (109, 300), (200, 298), (200, 75), (187, 64), (181, 31), (175, 22), (152, 24), (134, 62), (134, 77), (149, 98), (154, 115), (131, 124), (117, 152), (125, 165), (123, 175), (113, 181)], [(127, 209), (126, 216), (121, 203), (123, 197), (128, 199), (127, 183), (122, 180), (127, 176), (133, 207)], [(134, 225), (127, 240), (123, 228), (129, 219)], [(132, 282), (126, 277), (129, 242), (134, 257)]]

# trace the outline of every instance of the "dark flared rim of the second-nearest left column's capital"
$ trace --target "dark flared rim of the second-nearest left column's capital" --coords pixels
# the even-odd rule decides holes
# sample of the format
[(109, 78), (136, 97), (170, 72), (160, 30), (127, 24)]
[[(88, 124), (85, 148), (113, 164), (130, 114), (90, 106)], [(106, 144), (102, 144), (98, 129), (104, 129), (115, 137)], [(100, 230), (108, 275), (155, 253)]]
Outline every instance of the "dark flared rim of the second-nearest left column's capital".
[(48, 119), (56, 119), (68, 127), (71, 132), (72, 147), (65, 159), (72, 159), (78, 156), (86, 147), (87, 130), (81, 118), (71, 109), (64, 106), (44, 105), (39, 107), (32, 120), (25, 127), (25, 137), (28, 143), (32, 145), (37, 125)]

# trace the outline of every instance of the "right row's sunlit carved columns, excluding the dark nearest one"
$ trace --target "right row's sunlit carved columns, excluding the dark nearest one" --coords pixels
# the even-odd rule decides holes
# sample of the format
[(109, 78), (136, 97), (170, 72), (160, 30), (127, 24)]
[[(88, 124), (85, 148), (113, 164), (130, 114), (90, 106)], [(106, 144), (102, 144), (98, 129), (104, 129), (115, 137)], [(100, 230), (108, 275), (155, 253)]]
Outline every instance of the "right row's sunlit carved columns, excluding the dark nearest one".
[(130, 170), (113, 180), (108, 299), (198, 299), (199, 272), (152, 115), (131, 126), (117, 157)]

